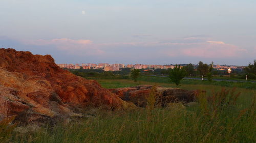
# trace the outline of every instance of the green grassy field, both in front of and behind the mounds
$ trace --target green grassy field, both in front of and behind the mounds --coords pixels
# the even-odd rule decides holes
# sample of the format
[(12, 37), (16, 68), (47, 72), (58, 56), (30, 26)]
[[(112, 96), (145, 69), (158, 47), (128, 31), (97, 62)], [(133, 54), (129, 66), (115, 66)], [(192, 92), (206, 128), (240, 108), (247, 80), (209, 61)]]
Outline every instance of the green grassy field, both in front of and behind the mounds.
[[(138, 82), (130, 79), (97, 81), (108, 89), (138, 84), (175, 87), (160, 79), (140, 77)], [(236, 83), (225, 86), (226, 89), (232, 87), (236, 87)], [(198, 104), (193, 106), (172, 103), (153, 110), (96, 110), (96, 116), (87, 119), (49, 125), (24, 134), (13, 131), (6, 142), (256, 142), (256, 90), (241, 85), (236, 89), (236, 93), (241, 92), (237, 102), (229, 104), (234, 101), (230, 94), (216, 98), (220, 102), (207, 100), (212, 92), (221, 91), (220, 83), (182, 81), (180, 88), (206, 90), (207, 95), (200, 96)]]

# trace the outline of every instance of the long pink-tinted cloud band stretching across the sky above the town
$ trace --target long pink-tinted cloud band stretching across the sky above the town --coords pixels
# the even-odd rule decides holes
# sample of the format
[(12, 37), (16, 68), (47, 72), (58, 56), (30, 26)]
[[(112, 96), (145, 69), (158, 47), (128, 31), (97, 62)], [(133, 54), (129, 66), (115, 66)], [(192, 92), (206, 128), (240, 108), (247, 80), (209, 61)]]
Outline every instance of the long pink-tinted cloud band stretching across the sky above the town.
[[(198, 58), (234, 58), (245, 55), (246, 49), (236, 45), (226, 44), (222, 41), (214, 41), (202, 38), (170, 39), (163, 42), (113, 42), (95, 44), (91, 40), (72, 40), (68, 38), (52, 40), (29, 41), (33, 45), (53, 45), (58, 50), (65, 50), (76, 55), (102, 55), (102, 56), (131, 56), (134, 52), (142, 52), (145, 55), (154, 53), (154, 56), (188, 56)], [(130, 48), (134, 47), (131, 51)], [(131, 54), (131, 55), (129, 55)], [(251, 53), (250, 53), (251, 54)]]

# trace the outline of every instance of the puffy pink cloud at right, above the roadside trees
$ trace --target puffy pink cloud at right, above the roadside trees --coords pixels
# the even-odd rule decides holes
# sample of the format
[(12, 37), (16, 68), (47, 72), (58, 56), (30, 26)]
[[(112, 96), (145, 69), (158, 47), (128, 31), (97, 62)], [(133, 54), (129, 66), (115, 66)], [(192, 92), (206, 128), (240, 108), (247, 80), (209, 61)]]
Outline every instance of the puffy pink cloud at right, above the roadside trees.
[[(195, 58), (236, 58), (247, 53), (246, 49), (222, 41), (210, 41), (209, 38), (184, 38), (176, 43), (167, 43), (169, 50), (164, 53), (172, 56)], [(171, 53), (171, 54), (170, 54)]]

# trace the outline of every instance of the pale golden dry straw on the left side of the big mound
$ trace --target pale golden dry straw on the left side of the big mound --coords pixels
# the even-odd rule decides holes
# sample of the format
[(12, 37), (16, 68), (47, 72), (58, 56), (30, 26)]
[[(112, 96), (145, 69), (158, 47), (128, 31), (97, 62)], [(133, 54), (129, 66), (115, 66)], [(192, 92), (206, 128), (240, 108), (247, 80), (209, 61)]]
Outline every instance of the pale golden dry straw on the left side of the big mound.
[[(26, 77), (23, 74), (15, 73), (15, 72), (8, 72), (7, 70), (0, 68), (0, 86), (2, 86), (2, 94), (0, 99), (0, 113), (2, 115), (7, 115), (7, 109), (5, 106), (5, 99), (12, 99), (14, 101), (24, 100), (29, 105), (33, 107), (33, 110), (39, 113), (44, 113), (48, 116), (53, 116), (54, 113), (50, 109), (44, 107), (45, 104), (48, 102), (39, 102), (40, 100), (46, 100), (49, 98), (53, 89), (49, 81), (45, 80), (44, 78), (38, 76), (29, 76)], [(10, 94), (8, 89), (14, 89), (17, 91), (17, 97), (15, 95)], [(1, 90), (1, 89), (0, 89)], [(28, 97), (28, 94), (34, 92), (41, 92), (42, 94), (39, 98), (35, 101), (32, 99), (33, 97)], [(2, 108), (3, 106), (3, 108)], [(3, 113), (2, 113), (3, 112)]]

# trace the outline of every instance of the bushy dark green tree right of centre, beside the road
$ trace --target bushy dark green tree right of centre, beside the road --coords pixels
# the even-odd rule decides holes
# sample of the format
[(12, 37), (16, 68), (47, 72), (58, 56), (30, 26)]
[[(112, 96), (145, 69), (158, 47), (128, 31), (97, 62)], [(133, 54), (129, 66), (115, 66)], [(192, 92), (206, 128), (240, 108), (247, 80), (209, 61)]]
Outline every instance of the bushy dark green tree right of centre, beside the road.
[(170, 81), (174, 82), (176, 84), (176, 87), (180, 85), (181, 79), (186, 76), (186, 71), (184, 68), (180, 68), (179, 66), (175, 66), (174, 69), (170, 69), (169, 71), (169, 78)]

